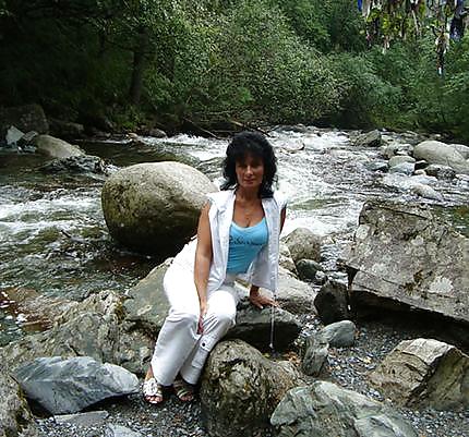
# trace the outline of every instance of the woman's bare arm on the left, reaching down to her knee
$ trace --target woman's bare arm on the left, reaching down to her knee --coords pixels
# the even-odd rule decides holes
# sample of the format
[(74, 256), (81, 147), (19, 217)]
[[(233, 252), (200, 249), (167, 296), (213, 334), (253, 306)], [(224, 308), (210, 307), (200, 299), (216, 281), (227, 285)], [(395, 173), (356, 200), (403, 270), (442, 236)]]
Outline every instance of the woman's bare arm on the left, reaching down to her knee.
[(209, 204), (202, 209), (199, 218), (197, 246), (195, 248), (194, 283), (199, 294), (201, 305), (201, 316), (199, 318), (199, 333), (202, 333), (202, 319), (207, 312), (207, 283), (212, 265), (212, 233), (208, 220)]

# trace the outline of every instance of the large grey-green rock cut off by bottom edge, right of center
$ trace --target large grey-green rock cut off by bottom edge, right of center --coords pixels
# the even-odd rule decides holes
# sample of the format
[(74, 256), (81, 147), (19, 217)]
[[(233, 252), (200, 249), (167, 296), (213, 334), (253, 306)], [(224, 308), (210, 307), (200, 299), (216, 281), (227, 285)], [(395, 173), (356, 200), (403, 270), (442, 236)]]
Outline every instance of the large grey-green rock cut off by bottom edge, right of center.
[(270, 423), (277, 437), (418, 437), (396, 411), (327, 381), (288, 391)]

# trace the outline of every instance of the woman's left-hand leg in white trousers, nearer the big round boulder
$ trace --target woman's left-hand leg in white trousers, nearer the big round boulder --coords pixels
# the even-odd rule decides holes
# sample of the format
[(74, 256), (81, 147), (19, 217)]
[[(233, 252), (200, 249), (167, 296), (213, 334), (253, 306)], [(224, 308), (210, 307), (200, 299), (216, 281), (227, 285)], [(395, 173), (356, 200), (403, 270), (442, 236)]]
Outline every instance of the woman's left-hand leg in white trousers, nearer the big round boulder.
[(170, 311), (156, 341), (152, 371), (158, 384), (170, 386), (201, 337), (200, 304), (193, 274), (176, 264), (166, 272), (164, 288)]

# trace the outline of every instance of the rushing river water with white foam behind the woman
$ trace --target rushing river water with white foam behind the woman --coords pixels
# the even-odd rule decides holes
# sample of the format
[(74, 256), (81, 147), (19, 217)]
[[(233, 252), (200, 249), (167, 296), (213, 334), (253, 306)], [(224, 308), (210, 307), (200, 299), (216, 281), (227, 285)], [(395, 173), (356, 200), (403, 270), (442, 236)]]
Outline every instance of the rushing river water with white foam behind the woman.
[[(368, 163), (382, 159), (378, 150), (350, 145), (346, 132), (310, 128), (270, 135), (278, 158), (278, 189), (290, 198), (285, 233), (306, 227), (327, 236), (324, 256), (330, 270), (368, 197), (417, 199), (407, 190), (408, 177), (368, 170)], [(399, 141), (398, 135), (393, 139)], [(117, 167), (179, 160), (217, 183), (227, 144), (177, 135), (81, 146)], [(0, 151), (0, 345), (27, 333), (25, 315), (14, 311), (5, 293), (33, 290), (73, 300), (103, 289), (124, 293), (160, 260), (131, 253), (110, 239), (100, 207), (105, 178), (43, 173), (38, 167), (45, 161), (37, 155)], [(468, 180), (432, 184), (445, 201), (425, 203), (443, 206), (441, 214), (468, 233)]]

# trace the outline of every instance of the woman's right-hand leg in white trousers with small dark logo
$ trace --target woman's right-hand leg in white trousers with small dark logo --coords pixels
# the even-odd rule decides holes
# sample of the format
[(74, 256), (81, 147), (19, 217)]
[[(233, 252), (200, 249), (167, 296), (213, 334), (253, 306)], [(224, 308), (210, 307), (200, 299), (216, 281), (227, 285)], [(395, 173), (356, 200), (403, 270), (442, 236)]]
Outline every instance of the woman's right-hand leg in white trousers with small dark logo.
[(223, 284), (208, 295), (207, 302), (204, 331), (180, 369), (182, 378), (190, 384), (197, 383), (209, 352), (236, 324), (238, 293), (232, 284)]

